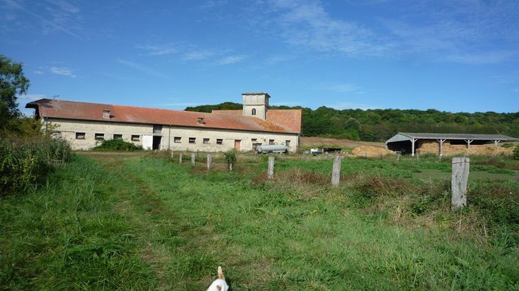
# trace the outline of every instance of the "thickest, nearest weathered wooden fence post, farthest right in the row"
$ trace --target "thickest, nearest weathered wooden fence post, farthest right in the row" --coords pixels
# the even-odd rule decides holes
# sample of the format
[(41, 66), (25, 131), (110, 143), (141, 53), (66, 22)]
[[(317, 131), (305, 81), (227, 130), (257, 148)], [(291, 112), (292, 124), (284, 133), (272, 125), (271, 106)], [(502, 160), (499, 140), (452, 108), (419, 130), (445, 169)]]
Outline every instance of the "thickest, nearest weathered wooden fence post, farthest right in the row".
[(450, 200), (450, 209), (452, 210), (466, 206), (466, 185), (470, 164), (471, 160), (467, 157), (453, 158), (453, 177), (450, 180), (450, 188), (453, 191)]

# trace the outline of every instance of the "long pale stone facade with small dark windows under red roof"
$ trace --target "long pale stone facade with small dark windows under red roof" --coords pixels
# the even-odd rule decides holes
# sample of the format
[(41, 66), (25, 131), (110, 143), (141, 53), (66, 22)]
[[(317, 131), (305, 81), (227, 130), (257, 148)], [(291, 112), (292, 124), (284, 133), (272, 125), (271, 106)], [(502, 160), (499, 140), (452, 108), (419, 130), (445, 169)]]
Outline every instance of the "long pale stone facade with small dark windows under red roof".
[[(64, 118), (46, 118), (55, 136), (61, 136), (74, 150), (89, 150), (102, 143), (103, 139), (120, 138), (124, 141), (143, 144), (144, 139), (154, 139), (159, 150), (185, 150), (203, 152), (226, 152), (237, 149), (253, 150), (253, 143), (286, 144), (289, 152), (299, 145), (299, 134), (278, 132), (254, 132), (246, 130), (222, 130), (216, 128), (180, 127), (151, 124), (117, 123), (111, 121), (82, 121)], [(96, 139), (97, 136), (97, 139)], [(100, 138), (102, 136), (102, 139)], [(146, 137), (148, 136), (148, 137)], [(150, 137), (151, 136), (151, 137)], [(193, 140), (194, 139), (194, 140)]]

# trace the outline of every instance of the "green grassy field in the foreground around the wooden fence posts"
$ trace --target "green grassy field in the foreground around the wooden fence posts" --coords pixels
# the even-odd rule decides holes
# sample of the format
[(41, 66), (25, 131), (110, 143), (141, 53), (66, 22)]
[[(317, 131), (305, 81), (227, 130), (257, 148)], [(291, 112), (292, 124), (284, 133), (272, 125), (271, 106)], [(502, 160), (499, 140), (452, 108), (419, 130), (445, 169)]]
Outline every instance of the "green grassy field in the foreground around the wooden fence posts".
[[(452, 213), (432, 159), (240, 157), (226, 173), (167, 157), (74, 156), (0, 204), (0, 288), (203, 290), (519, 289), (519, 182), (472, 177)], [(510, 166), (512, 165), (512, 166)], [(425, 172), (424, 172), (425, 171)], [(483, 175), (484, 176), (484, 175)]]

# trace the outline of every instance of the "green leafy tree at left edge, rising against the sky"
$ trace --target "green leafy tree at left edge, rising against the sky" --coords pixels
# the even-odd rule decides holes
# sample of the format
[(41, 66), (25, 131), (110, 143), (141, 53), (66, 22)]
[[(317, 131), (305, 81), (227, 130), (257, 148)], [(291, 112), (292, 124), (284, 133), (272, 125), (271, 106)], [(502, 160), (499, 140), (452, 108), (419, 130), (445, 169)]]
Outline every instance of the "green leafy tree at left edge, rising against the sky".
[(25, 94), (29, 80), (24, 76), (21, 63), (0, 55), (0, 132), (20, 116), (17, 95)]

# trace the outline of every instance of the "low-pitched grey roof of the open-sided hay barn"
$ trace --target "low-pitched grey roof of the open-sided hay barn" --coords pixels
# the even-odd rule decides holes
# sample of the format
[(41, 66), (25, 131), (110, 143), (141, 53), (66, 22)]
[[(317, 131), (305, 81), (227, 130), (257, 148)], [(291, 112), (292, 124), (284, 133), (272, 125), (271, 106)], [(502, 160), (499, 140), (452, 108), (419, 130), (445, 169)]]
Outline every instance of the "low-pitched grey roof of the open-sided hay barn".
[(399, 132), (395, 134), (391, 139), (385, 141), (385, 144), (392, 143), (395, 141), (410, 141), (411, 139), (471, 139), (475, 141), (519, 141), (519, 139), (502, 134), (441, 134), (424, 132)]

